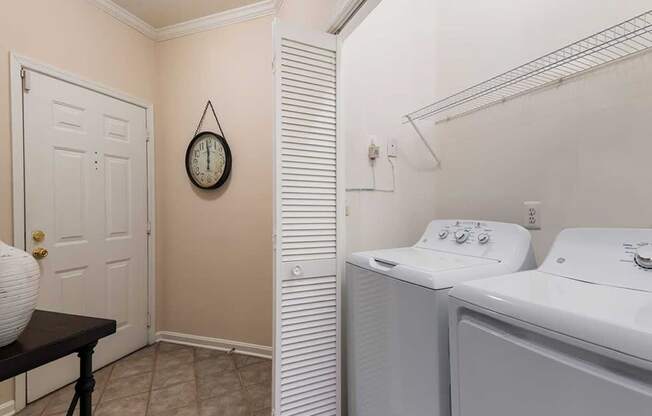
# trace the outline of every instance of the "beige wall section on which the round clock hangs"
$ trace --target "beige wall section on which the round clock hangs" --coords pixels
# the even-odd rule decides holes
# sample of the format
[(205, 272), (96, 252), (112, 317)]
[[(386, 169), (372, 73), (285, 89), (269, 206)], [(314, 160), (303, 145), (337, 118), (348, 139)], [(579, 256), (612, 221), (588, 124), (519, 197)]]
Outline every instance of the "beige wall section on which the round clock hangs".
[[(272, 343), (271, 33), (265, 17), (157, 44), (160, 330)], [(184, 165), (208, 99), (233, 154), (217, 191)]]

